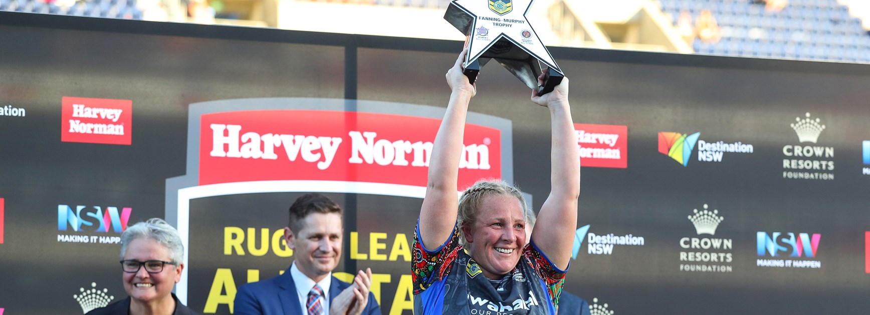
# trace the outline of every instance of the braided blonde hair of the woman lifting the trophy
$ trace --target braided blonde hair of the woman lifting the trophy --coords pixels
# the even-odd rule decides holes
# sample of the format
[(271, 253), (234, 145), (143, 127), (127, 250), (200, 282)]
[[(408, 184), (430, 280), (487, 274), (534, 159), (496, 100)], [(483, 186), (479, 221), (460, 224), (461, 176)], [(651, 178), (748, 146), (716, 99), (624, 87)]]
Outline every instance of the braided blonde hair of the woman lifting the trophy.
[[(523, 217), (526, 221), (529, 221), (530, 215), (534, 216), (532, 210), (525, 204), (525, 198), (523, 198), (523, 194), (519, 191), (519, 187), (508, 184), (505, 180), (478, 180), (472, 187), (465, 189), (462, 197), (459, 197), (459, 209), (456, 216), (458, 227), (470, 226), (478, 219), (480, 200), (483, 200), (485, 196), (498, 194), (513, 196), (519, 200), (519, 204), (523, 205)], [(461, 231), (459, 232), (459, 244), (462, 246), (468, 245), (465, 240), (465, 233)]]

